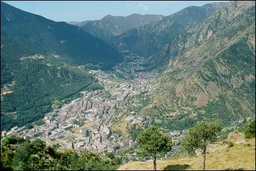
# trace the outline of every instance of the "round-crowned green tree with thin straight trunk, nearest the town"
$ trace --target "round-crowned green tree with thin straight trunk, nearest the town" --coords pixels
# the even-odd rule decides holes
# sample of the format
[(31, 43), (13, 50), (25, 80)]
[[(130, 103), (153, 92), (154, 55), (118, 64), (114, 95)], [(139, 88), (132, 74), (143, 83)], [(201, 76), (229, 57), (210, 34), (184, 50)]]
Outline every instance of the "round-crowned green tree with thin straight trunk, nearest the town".
[(154, 159), (156, 170), (156, 158), (158, 153), (168, 152), (172, 149), (172, 138), (164, 135), (156, 126), (150, 126), (140, 133), (137, 138), (138, 147), (142, 156), (151, 156)]

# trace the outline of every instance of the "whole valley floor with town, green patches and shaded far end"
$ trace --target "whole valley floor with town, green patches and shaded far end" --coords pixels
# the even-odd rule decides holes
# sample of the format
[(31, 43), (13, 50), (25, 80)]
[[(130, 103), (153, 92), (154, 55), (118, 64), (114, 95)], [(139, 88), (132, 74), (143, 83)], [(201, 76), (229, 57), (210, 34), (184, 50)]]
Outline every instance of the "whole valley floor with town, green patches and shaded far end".
[[(103, 89), (81, 91), (80, 98), (45, 114), (42, 124), (34, 122), (29, 129), (15, 126), (10, 131), (3, 131), (3, 136), (15, 135), (29, 140), (40, 138), (60, 150), (88, 150), (100, 154), (115, 152), (124, 162), (146, 161), (136, 156), (136, 138), (148, 126), (159, 125), (174, 142), (172, 151), (166, 156), (179, 154), (182, 137), (196, 121), (195, 117), (200, 118), (205, 110), (172, 110), (160, 117), (143, 113), (152, 107), (150, 96), (157, 93), (154, 80), (159, 77), (159, 72), (147, 71), (143, 67), (145, 58), (136, 54), (127, 55), (126, 52), (124, 59), (113, 71), (88, 70)], [(186, 124), (189, 121), (192, 122)], [(243, 122), (244, 119), (237, 120), (233, 126)], [(230, 129), (232, 127), (226, 128)]]

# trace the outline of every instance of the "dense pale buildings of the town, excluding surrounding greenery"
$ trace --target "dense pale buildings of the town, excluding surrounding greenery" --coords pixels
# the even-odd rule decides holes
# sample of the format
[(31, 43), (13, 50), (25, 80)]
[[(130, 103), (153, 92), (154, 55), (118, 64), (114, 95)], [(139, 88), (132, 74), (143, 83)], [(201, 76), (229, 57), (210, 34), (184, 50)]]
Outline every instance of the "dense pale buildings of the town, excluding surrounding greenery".
[[(100, 82), (105, 85), (108, 73), (92, 71)], [(152, 86), (147, 80), (136, 78), (124, 80), (114, 88), (108, 89), (110, 98), (101, 98), (105, 90), (84, 91), (83, 97), (63, 105), (60, 109), (49, 112), (44, 117), (44, 124), (32, 129), (25, 126), (15, 126), (10, 131), (3, 131), (6, 135), (15, 135), (34, 140), (40, 138), (47, 145), (59, 144), (64, 148), (88, 149), (93, 152), (115, 152), (116, 150), (136, 144), (132, 140), (111, 133), (109, 124), (116, 115), (115, 107), (124, 105), (128, 96), (140, 94), (142, 91), (152, 92)], [(134, 113), (135, 114), (135, 113)], [(132, 112), (131, 112), (132, 115)], [(142, 123), (147, 117), (140, 116), (131, 119), (131, 124)]]

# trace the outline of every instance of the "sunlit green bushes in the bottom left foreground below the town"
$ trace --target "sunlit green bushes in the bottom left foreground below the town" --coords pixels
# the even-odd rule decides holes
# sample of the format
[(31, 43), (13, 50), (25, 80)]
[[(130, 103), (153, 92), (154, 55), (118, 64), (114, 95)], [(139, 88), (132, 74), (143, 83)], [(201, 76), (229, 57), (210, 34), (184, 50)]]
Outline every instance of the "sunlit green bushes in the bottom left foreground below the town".
[(122, 161), (113, 154), (58, 151), (40, 139), (6, 137), (1, 142), (1, 170), (116, 170)]

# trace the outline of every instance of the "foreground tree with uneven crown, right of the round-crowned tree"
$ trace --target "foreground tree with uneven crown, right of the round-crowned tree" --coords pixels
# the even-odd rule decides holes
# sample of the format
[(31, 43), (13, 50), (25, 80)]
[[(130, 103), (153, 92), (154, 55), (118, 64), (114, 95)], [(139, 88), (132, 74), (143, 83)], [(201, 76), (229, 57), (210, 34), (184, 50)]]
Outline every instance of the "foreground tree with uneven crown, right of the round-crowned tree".
[(203, 170), (205, 170), (207, 146), (216, 142), (221, 129), (221, 123), (219, 121), (211, 123), (200, 122), (193, 128), (189, 128), (188, 135), (181, 143), (182, 148), (189, 152), (189, 154), (196, 156), (196, 158), (198, 158), (196, 151), (201, 152), (203, 159), (198, 158), (198, 160), (201, 161)]

